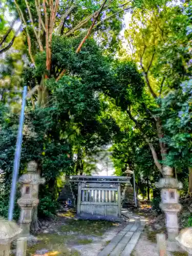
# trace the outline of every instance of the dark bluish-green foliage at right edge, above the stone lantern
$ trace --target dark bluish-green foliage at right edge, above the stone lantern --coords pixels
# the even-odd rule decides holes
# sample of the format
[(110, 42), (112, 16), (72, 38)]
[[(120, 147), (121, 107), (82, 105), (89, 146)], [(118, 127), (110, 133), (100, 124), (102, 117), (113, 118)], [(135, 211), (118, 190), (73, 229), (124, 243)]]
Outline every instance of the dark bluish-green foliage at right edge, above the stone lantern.
[(164, 124), (164, 141), (169, 145), (167, 164), (179, 168), (192, 165), (191, 155), (191, 79), (161, 100), (158, 115)]

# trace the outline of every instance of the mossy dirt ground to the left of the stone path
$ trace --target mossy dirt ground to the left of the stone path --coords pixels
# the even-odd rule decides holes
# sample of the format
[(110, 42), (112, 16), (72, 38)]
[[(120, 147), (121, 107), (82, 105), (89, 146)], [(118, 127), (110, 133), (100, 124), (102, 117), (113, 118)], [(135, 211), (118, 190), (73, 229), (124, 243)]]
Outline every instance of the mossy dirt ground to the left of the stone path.
[(41, 224), (35, 234), (37, 241), (27, 247), (28, 256), (96, 256), (127, 222), (78, 220), (73, 211), (68, 211)]

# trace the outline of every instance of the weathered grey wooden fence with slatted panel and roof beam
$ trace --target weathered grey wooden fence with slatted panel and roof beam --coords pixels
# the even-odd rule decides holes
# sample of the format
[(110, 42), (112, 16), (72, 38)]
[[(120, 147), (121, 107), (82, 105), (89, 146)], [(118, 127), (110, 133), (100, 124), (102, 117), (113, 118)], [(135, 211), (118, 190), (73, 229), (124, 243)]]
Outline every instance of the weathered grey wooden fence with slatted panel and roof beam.
[(121, 183), (129, 177), (72, 176), (78, 182), (77, 216), (87, 219), (121, 218)]

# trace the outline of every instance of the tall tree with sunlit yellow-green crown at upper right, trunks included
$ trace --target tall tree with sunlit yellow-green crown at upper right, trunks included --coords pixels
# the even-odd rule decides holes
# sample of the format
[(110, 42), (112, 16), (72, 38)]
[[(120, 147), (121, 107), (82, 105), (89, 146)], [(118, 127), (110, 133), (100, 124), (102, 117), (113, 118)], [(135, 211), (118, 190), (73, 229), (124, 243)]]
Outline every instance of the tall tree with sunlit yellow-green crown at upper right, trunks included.
[[(168, 7), (167, 3), (159, 6), (147, 1), (144, 10), (137, 9), (134, 12), (132, 23), (125, 33), (132, 50), (132, 58), (142, 71), (147, 93), (152, 101), (148, 105), (145, 102), (141, 104), (145, 110), (144, 116), (140, 114), (139, 109), (135, 112), (133, 105), (129, 106), (127, 113), (150, 146), (160, 172), (162, 164), (166, 165), (167, 144), (163, 141), (165, 134), (162, 120), (160, 116), (155, 115), (154, 110), (160, 108), (160, 99), (170, 90), (177, 90), (179, 84), (190, 74), (187, 67), (190, 54), (186, 51), (190, 38), (186, 35), (189, 20), (183, 9), (179, 6)], [(147, 115), (151, 116), (151, 125), (156, 126), (161, 159), (158, 158), (151, 138), (147, 136), (146, 130), (143, 130)]]

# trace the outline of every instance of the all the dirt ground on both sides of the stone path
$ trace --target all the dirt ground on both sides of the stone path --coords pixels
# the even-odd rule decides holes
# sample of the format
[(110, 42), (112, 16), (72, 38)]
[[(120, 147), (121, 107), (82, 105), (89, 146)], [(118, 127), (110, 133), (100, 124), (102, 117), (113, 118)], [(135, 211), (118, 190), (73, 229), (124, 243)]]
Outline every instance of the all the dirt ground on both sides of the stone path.
[[(158, 256), (156, 234), (166, 235), (164, 215), (157, 215), (148, 206), (134, 213), (144, 216), (146, 225), (132, 256)], [(183, 225), (186, 222), (182, 218), (179, 220)], [(97, 256), (126, 225), (127, 222), (78, 220), (74, 210), (62, 212), (55, 220), (41, 222), (41, 230), (35, 234), (37, 240), (28, 244), (27, 256)], [(178, 252), (171, 255), (187, 254)]]

